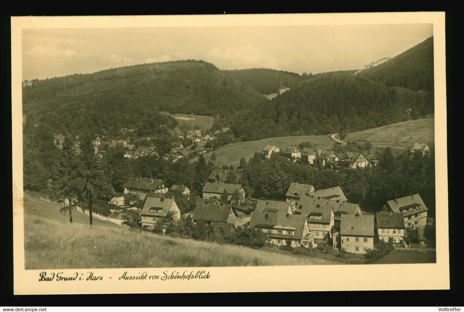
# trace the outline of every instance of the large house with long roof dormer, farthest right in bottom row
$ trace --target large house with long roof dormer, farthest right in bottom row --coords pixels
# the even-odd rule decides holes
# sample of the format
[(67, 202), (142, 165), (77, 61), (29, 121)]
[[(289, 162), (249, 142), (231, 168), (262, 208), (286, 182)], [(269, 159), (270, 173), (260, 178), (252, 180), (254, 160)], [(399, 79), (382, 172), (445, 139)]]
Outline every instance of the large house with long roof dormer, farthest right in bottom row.
[(392, 199), (381, 209), (383, 212), (400, 213), (405, 228), (425, 228), (428, 210), (419, 194)]

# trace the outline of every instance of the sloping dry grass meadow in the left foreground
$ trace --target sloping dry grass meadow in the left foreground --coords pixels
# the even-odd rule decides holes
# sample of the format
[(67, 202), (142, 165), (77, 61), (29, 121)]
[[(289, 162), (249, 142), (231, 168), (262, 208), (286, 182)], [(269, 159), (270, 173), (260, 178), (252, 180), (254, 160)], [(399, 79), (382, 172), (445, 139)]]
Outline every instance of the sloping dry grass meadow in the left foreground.
[[(25, 194), (26, 269), (118, 267), (233, 267), (339, 264), (304, 256), (174, 239), (95, 220), (60, 215), (59, 205)], [(86, 221), (85, 224), (83, 221)]]

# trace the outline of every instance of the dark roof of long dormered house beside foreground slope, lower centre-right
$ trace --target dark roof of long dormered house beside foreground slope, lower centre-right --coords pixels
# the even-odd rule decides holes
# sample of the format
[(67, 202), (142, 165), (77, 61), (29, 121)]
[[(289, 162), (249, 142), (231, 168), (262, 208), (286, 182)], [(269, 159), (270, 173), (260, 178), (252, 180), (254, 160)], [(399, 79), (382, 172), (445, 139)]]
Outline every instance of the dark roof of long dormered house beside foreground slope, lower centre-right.
[[(288, 238), (301, 240), (303, 237), (303, 229), (305, 224), (304, 215), (287, 215), (282, 213), (268, 213), (253, 211), (250, 218), (251, 228), (285, 228), (295, 229), (295, 235), (284, 235)], [(278, 234), (269, 234), (272, 237), (277, 237)]]

